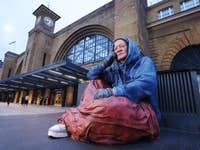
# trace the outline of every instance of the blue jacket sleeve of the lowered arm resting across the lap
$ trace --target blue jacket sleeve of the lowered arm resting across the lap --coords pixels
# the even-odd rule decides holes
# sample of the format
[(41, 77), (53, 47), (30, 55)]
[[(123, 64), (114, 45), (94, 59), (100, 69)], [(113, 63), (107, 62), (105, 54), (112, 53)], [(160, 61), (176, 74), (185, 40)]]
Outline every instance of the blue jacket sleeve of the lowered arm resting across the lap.
[(136, 103), (156, 94), (156, 71), (151, 59), (147, 57), (143, 59), (136, 69), (134, 78), (123, 85), (114, 87), (113, 90), (115, 96), (126, 96)]

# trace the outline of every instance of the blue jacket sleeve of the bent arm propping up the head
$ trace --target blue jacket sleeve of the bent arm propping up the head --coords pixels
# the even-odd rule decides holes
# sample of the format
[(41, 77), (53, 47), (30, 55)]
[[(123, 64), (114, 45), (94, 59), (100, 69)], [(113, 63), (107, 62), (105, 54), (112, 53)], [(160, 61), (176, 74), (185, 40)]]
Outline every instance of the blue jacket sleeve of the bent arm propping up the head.
[(89, 80), (95, 80), (100, 78), (106, 81), (107, 83), (112, 84), (113, 75), (111, 69), (111, 67), (107, 67), (106, 69), (104, 69), (101, 64), (97, 64), (89, 70), (89, 72), (87, 73), (87, 78)]

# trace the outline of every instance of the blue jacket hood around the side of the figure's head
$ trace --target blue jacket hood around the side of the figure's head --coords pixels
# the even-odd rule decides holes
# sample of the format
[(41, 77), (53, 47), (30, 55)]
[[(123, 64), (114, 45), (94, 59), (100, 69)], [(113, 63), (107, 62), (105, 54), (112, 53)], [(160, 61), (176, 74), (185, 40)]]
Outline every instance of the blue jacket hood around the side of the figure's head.
[(130, 38), (124, 37), (123, 39), (128, 43), (128, 55), (126, 56), (124, 63), (135, 63), (142, 56), (140, 50)]

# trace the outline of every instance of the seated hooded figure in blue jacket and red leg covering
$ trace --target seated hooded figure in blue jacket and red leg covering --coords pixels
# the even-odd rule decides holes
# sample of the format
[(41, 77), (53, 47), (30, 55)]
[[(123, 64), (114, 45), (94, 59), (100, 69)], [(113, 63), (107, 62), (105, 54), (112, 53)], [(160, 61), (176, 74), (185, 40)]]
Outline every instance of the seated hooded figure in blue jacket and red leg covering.
[(116, 39), (113, 51), (87, 77), (81, 104), (49, 128), (49, 137), (124, 144), (159, 136), (155, 65), (130, 38)]

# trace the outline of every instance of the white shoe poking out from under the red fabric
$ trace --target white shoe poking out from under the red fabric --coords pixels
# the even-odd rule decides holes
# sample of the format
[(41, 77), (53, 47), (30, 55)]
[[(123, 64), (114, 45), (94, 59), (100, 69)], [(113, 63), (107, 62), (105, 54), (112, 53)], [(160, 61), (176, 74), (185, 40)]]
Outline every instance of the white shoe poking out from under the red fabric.
[(68, 137), (66, 127), (64, 124), (56, 124), (49, 128), (48, 136), (52, 138), (64, 138)]

